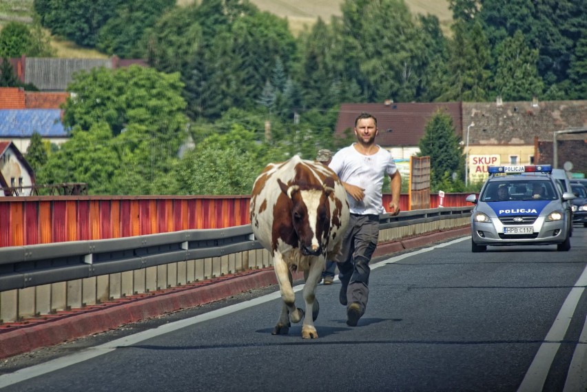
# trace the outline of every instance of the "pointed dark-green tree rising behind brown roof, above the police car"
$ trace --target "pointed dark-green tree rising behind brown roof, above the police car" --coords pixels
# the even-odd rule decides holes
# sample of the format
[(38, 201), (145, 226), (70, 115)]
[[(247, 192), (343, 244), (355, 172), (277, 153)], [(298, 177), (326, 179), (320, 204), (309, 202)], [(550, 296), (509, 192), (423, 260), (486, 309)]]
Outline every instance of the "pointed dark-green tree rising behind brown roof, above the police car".
[(529, 49), (524, 35), (517, 30), (504, 39), (495, 75), (495, 90), (505, 101), (528, 101), (541, 96), (544, 83), (538, 76), (538, 50)]

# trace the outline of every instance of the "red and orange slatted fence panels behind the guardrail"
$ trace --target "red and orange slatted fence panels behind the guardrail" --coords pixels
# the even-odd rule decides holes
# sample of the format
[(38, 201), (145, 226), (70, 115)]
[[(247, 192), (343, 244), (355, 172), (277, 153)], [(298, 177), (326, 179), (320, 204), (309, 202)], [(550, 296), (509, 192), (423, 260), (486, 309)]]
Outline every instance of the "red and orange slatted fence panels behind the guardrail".
[[(446, 194), (444, 207), (469, 205)], [(28, 196), (0, 198), (0, 247), (101, 240), (248, 225), (249, 196)], [(387, 208), (391, 195), (383, 196)], [(402, 194), (400, 209), (408, 209)], [(431, 195), (431, 208), (438, 197)]]

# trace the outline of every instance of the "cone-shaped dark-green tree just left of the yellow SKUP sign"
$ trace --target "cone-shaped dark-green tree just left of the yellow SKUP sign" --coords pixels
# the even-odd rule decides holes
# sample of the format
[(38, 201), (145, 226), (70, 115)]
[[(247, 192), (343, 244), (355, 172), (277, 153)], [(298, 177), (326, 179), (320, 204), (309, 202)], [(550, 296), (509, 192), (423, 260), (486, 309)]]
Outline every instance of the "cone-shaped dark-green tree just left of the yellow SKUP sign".
[[(453, 119), (449, 114), (437, 111), (424, 128), (420, 139), (418, 156), (430, 156), (431, 183), (434, 189), (453, 173), (460, 176), (463, 172), (463, 147), (455, 132)], [(452, 189), (442, 189), (451, 192)]]

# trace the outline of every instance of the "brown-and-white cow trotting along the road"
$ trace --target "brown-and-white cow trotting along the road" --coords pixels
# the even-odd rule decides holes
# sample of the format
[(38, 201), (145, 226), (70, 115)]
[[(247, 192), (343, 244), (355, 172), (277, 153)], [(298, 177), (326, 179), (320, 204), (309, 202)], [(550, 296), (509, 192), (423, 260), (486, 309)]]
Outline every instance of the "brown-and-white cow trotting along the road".
[[(300, 322), (302, 338), (318, 338), (313, 321), (320, 305), (316, 285), (325, 259), (340, 253), (349, 223), (349, 203), (338, 176), (322, 163), (296, 155), (269, 163), (256, 178), (249, 210), (256, 240), (271, 253), (283, 300), (272, 334), (287, 334), (291, 322)], [(296, 308), (292, 271), (303, 271), (306, 310)]]

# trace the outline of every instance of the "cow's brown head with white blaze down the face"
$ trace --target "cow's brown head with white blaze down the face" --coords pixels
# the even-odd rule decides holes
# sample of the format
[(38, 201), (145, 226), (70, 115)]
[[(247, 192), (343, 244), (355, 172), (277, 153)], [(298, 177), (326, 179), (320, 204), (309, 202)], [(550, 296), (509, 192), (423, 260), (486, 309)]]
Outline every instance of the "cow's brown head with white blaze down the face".
[(327, 185), (286, 185), (277, 181), (291, 200), (291, 225), (296, 231), (300, 251), (305, 256), (322, 254), (330, 234), (329, 196), (334, 189)]

